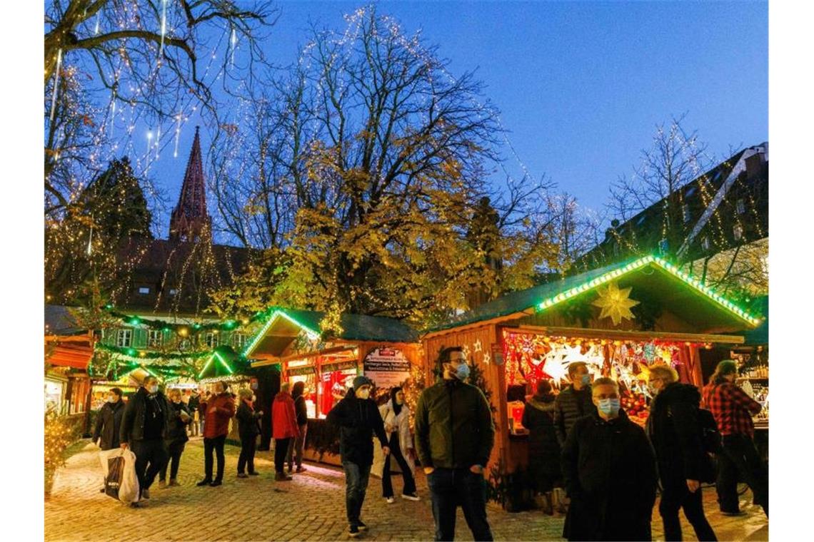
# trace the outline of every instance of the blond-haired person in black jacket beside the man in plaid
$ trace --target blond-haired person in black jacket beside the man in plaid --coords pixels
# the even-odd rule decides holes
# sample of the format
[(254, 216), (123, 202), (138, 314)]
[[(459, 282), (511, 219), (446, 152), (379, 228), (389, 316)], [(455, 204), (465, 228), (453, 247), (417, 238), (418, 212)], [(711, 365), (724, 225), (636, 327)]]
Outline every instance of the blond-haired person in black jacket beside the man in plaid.
[(647, 435), (663, 487), (659, 514), (664, 538), (681, 540), (678, 510), (683, 508), (698, 540), (718, 540), (704, 516), (701, 495), (701, 482), (715, 478), (715, 467), (704, 452), (698, 429), (701, 392), (692, 384), (678, 382), (678, 373), (668, 365), (650, 367), (649, 383), (655, 398), (650, 404)]

